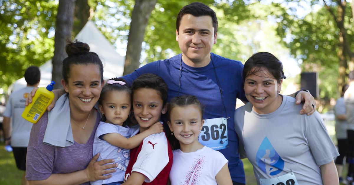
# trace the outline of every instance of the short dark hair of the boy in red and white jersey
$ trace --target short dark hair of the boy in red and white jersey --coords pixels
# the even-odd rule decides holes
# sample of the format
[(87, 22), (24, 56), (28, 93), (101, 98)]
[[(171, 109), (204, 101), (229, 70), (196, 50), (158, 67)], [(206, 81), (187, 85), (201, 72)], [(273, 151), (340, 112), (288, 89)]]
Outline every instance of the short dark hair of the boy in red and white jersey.
[(132, 97), (134, 96), (135, 91), (139, 88), (156, 90), (162, 99), (163, 106), (167, 103), (167, 92), (169, 88), (160, 76), (152, 73), (146, 73), (137, 77), (132, 83)]

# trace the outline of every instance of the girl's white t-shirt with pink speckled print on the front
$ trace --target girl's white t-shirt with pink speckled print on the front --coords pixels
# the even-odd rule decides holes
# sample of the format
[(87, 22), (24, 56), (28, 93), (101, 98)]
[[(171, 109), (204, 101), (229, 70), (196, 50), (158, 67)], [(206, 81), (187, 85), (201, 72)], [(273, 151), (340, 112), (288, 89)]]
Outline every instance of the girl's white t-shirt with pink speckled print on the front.
[(195, 152), (173, 150), (170, 172), (172, 185), (217, 185), (215, 176), (228, 160), (219, 152), (204, 146)]

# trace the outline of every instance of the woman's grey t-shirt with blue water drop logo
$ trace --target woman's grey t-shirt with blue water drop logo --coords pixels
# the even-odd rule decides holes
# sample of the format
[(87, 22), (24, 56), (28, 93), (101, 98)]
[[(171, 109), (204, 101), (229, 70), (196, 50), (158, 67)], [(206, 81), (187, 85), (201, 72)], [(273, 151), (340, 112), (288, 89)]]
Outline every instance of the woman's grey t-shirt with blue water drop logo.
[(301, 109), (295, 98), (283, 96), (270, 114), (257, 114), (251, 103), (235, 111), (235, 129), (258, 184), (288, 173), (301, 185), (322, 184), (319, 165), (339, 155), (320, 114), (300, 115)]

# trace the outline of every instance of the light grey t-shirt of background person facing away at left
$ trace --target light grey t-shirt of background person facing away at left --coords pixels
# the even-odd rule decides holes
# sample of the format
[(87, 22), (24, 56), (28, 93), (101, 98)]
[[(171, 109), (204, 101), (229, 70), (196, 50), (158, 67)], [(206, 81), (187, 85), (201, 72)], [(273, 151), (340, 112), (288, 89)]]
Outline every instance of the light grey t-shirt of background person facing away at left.
[(29, 93), (33, 87), (25, 87), (12, 92), (6, 103), (5, 117), (11, 117), (12, 135), (11, 146), (13, 147), (27, 147), (29, 141), (29, 134), (33, 123), (25, 120), (22, 117), (22, 112), (25, 108)]

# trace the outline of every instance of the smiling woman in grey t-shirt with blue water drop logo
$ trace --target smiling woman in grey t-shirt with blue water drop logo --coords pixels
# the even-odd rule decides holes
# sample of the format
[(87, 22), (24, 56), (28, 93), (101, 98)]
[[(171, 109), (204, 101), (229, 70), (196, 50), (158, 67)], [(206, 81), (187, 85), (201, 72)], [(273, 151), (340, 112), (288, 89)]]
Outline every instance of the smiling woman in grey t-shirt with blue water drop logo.
[(273, 54), (255, 53), (243, 78), (249, 102), (235, 111), (235, 129), (257, 183), (339, 185), (333, 162), (338, 152), (319, 113), (300, 115), (302, 105), (279, 94), (282, 63)]

